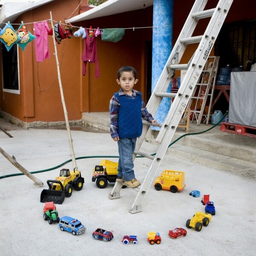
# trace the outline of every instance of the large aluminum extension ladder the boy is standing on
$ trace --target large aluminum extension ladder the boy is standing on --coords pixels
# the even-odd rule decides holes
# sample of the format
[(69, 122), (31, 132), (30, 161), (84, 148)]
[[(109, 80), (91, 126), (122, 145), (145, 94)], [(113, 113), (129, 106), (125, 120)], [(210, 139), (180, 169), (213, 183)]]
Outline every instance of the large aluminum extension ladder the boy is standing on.
[[(183, 29), (177, 38), (177, 42), (172, 49), (160, 78), (157, 81), (154, 91), (148, 101), (147, 109), (154, 116), (163, 97), (175, 98), (156, 138), (156, 141), (160, 144), (160, 146), (154, 156), (139, 151), (148, 128), (151, 125), (151, 123), (148, 123), (147, 125), (145, 125), (145, 123), (143, 124), (143, 132), (141, 137), (137, 140), (136, 149), (134, 151), (134, 159), (138, 154), (150, 158), (152, 163), (142, 185), (139, 188), (134, 189), (137, 191), (137, 196), (131, 206), (131, 209), (129, 210), (131, 213), (142, 211), (142, 203), (145, 195), (147, 195), (148, 188), (151, 185), (157, 170), (159, 169), (177, 125), (180, 122), (180, 118), (189, 102), (189, 99), (192, 96), (193, 90), (195, 89), (195, 84), (197, 83), (205, 66), (209, 52), (215, 43), (221, 26), (224, 23), (225, 17), (227, 16), (233, 2), (233, 0), (219, 0), (216, 8), (204, 10), (207, 1), (208, 0), (195, 0)], [(204, 35), (192, 37), (198, 20), (207, 17), (211, 17), (211, 19), (207, 29), (204, 32)], [(179, 64), (187, 44), (195, 43), (199, 43), (199, 45), (189, 63)], [(187, 72), (178, 92), (166, 93), (166, 90), (174, 76), (175, 70), (187, 70)], [(120, 198), (121, 188), (122, 183), (116, 182), (108, 197), (110, 199)]]

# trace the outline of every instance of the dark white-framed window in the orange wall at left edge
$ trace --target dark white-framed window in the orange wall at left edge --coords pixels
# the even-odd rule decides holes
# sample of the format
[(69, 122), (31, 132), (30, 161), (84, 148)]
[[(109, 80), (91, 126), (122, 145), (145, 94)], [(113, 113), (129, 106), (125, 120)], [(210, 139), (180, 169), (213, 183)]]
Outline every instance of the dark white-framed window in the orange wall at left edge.
[(15, 44), (8, 52), (2, 44), (3, 91), (20, 94), (17, 47)]

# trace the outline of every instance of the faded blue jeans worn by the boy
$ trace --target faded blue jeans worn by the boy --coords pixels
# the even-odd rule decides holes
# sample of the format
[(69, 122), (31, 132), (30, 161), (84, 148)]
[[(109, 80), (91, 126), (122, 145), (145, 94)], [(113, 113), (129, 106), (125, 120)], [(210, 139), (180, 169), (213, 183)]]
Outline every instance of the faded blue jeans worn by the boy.
[(125, 138), (119, 139), (118, 144), (118, 173), (119, 177), (123, 177), (125, 181), (129, 181), (135, 178), (134, 175), (134, 163), (132, 156), (135, 150), (137, 138)]

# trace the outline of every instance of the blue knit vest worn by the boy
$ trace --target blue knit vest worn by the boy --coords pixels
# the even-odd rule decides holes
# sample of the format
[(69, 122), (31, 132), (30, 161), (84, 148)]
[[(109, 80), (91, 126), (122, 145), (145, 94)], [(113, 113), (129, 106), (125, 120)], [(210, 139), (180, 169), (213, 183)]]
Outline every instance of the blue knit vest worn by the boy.
[(136, 97), (119, 96), (119, 93), (114, 94), (120, 104), (118, 110), (118, 134), (120, 139), (137, 138), (142, 133), (142, 94), (138, 93)]

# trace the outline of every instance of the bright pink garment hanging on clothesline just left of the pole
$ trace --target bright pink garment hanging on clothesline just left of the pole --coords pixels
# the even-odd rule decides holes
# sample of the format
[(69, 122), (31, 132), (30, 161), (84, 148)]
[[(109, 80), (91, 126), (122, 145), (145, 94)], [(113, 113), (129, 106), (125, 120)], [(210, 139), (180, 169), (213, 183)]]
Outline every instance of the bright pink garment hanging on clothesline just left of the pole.
[(34, 23), (35, 29), (35, 55), (37, 61), (44, 61), (46, 58), (50, 58), (48, 47), (48, 32), (49, 27), (47, 21)]

